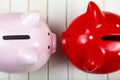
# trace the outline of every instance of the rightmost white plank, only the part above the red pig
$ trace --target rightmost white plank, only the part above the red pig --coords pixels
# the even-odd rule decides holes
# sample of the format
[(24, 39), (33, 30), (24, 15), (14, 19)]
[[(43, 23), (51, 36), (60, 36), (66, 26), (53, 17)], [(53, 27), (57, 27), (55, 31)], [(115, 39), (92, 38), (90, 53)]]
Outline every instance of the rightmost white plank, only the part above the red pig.
[(120, 0), (104, 0), (105, 10), (120, 15)]

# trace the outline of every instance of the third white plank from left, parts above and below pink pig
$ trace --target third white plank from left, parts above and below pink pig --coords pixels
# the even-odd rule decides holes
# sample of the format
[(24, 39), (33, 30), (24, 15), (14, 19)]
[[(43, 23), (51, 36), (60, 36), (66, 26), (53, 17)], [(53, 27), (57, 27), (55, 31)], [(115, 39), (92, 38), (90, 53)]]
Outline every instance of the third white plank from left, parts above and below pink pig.
[[(30, 11), (39, 11), (42, 19), (47, 21), (47, 0), (30, 0)], [(29, 80), (47, 80), (48, 79), (48, 63), (39, 70), (30, 73)]]

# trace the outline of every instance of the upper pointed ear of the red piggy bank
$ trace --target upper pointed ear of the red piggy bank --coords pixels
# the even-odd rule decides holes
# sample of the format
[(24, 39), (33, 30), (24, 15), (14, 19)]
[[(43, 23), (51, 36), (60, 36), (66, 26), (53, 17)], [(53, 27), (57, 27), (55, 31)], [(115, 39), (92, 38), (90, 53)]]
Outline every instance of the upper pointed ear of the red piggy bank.
[(87, 13), (96, 25), (101, 24), (105, 15), (94, 2), (89, 2)]

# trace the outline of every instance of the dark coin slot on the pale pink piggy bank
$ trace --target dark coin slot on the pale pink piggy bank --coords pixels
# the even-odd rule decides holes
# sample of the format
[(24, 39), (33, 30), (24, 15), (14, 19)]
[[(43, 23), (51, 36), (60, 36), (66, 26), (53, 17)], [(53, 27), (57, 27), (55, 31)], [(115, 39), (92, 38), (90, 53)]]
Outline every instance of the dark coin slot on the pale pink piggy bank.
[(3, 40), (26, 40), (30, 39), (29, 35), (6, 35), (3, 36)]

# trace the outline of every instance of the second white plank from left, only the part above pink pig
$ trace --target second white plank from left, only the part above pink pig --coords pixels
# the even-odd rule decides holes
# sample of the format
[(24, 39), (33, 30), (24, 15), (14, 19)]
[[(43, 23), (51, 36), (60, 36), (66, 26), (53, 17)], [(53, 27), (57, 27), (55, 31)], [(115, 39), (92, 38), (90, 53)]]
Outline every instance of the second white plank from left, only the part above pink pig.
[(11, 0), (11, 12), (28, 11), (28, 0)]

